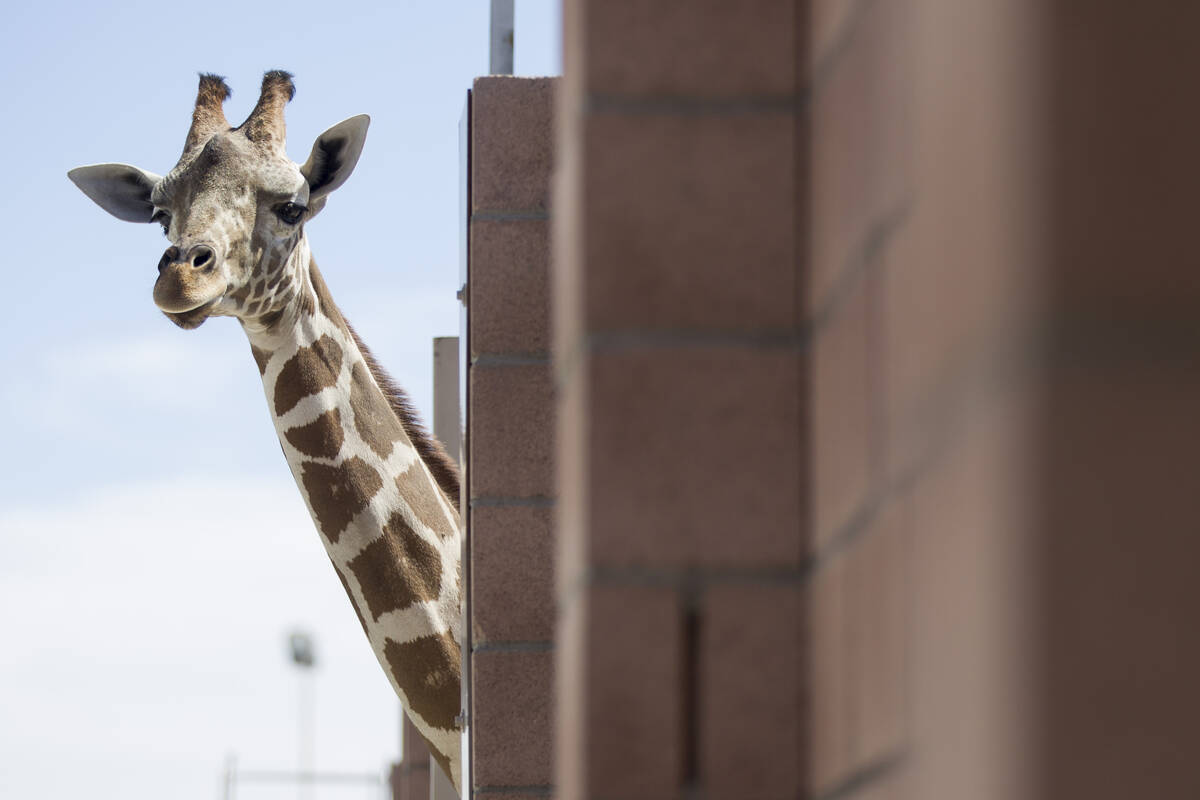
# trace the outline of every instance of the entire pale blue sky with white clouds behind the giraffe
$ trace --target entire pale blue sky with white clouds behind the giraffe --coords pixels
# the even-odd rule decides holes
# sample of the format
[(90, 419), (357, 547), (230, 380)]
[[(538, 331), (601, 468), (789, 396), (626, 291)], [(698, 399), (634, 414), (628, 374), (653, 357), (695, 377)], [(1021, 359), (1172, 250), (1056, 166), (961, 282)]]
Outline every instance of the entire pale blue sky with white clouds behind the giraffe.
[[(458, 332), (457, 126), (487, 2), (26, 4), (0, 29), (0, 796), (212, 798), (227, 753), (295, 763), (293, 626), (317, 637), (319, 769), (380, 770), (396, 702), (280, 453), (233, 320), (150, 300), (166, 243), (66, 179), (179, 156), (196, 73), (240, 121), (295, 74), (288, 151), (371, 114), (308, 225), (347, 317), (427, 419), (431, 339)], [(516, 72), (560, 70), (559, 10), (517, 0)], [(246, 787), (245, 800), (294, 796)], [(370, 798), (362, 788), (318, 798)]]

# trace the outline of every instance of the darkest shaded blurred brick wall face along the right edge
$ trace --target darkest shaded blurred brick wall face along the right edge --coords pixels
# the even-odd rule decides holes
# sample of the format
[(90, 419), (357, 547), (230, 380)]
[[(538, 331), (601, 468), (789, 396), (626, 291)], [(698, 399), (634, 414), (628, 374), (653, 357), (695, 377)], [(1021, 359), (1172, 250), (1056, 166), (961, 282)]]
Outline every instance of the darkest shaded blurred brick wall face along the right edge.
[(1046, 796), (1200, 796), (1196, 4), (1048, 4)]

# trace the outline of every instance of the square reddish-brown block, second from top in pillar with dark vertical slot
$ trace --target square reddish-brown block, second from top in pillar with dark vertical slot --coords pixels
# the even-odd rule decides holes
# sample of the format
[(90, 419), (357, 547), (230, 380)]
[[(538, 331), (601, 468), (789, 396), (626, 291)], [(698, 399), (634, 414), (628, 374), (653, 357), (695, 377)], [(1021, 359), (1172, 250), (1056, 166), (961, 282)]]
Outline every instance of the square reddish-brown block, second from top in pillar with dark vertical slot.
[(798, 324), (792, 114), (593, 115), (577, 263), (589, 330)]

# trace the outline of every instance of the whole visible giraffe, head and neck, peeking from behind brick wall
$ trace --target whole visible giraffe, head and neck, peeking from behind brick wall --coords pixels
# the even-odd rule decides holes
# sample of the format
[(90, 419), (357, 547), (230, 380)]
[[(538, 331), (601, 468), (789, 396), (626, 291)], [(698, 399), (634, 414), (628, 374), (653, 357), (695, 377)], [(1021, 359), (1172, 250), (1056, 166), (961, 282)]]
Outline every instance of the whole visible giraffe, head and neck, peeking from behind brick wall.
[(154, 301), (175, 325), (234, 317), (250, 339), (283, 455), (334, 569), (434, 759), (461, 790), (458, 475), (334, 303), (305, 223), (353, 172), (368, 118), (284, 151), (292, 76), (268, 72), (250, 116), (226, 120), (229, 88), (202, 74), (179, 163), (70, 179), (102, 209), (162, 225)]

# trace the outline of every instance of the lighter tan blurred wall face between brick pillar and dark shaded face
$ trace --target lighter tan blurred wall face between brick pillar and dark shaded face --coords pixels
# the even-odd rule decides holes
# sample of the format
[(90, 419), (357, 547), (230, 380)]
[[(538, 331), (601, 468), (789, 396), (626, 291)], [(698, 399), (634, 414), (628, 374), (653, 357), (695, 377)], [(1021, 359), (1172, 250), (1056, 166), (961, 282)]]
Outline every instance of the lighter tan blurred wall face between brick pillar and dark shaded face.
[(811, 4), (816, 796), (1036, 788), (1031, 8)]

